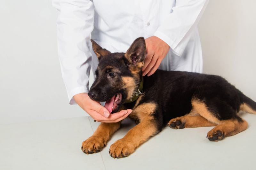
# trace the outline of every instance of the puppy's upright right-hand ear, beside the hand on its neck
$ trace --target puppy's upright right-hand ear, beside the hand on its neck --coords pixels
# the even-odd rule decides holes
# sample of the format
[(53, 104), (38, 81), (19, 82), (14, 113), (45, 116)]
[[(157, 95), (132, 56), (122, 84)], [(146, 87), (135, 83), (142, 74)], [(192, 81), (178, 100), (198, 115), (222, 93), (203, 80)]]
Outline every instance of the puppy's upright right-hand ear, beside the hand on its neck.
[(136, 40), (134, 40), (130, 48), (124, 54), (125, 58), (129, 61), (129, 63), (134, 66), (138, 65), (138, 63), (143, 62), (146, 55), (146, 42), (143, 37), (139, 37)]

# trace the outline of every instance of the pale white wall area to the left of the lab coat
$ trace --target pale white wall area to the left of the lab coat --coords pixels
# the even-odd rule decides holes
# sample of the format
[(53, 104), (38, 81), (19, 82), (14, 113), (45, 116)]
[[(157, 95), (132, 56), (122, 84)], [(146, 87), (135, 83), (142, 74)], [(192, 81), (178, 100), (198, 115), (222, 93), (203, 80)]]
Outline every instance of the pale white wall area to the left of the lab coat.
[(68, 104), (51, 0), (4, 0), (0, 12), (0, 123), (83, 116)]

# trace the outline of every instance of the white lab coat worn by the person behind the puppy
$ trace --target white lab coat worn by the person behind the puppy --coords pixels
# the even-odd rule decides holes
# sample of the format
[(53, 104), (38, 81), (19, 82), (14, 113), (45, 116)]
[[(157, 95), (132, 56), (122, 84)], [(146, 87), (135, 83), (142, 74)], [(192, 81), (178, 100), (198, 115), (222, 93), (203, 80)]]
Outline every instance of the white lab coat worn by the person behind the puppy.
[(138, 37), (152, 35), (170, 50), (159, 69), (202, 72), (197, 23), (208, 0), (52, 0), (59, 11), (58, 53), (70, 104), (88, 92), (98, 59), (92, 38), (110, 52), (125, 52)]

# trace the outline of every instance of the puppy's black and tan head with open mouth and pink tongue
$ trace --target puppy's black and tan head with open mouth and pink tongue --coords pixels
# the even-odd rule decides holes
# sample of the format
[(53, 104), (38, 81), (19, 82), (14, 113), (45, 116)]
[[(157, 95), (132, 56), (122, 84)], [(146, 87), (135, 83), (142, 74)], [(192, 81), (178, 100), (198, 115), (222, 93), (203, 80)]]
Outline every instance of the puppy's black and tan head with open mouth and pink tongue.
[(141, 69), (147, 55), (145, 39), (137, 38), (126, 53), (111, 53), (91, 41), (99, 65), (88, 95), (92, 100), (106, 101), (105, 107), (115, 113), (140, 86)]

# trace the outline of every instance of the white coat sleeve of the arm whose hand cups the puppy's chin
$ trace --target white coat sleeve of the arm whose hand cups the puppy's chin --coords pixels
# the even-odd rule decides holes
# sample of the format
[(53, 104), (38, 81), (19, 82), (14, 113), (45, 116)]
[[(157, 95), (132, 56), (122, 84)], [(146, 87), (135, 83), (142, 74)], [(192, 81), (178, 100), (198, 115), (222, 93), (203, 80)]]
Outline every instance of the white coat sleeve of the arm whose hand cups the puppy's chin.
[(91, 33), (94, 6), (89, 0), (52, 0), (57, 18), (58, 54), (70, 104), (73, 96), (88, 92), (91, 69)]

